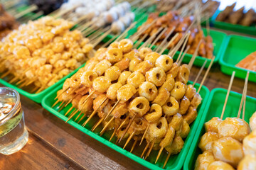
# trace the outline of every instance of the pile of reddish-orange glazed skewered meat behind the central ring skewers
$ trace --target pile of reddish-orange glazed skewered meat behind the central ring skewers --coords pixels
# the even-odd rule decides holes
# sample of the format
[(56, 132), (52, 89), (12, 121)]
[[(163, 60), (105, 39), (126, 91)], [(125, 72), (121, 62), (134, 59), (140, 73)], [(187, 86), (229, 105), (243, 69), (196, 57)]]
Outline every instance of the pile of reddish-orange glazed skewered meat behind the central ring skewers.
[[(147, 21), (142, 25), (151, 24), (151, 26), (142, 33), (141, 37), (149, 39), (154, 37), (155, 34), (159, 34), (159, 30), (163, 30), (158, 39), (156, 39), (156, 37), (154, 38), (154, 40), (156, 40), (156, 45), (161, 45), (166, 38), (167, 40), (171, 40), (171, 38), (174, 37), (173, 33), (176, 33), (177, 37), (168, 46), (169, 49), (174, 49), (193, 21), (193, 16), (182, 18), (176, 11), (169, 11), (164, 16), (159, 16), (158, 13), (151, 13)], [(139, 30), (140, 29), (141, 28), (139, 28)], [(199, 42), (201, 42), (201, 45), (198, 50), (198, 55), (209, 59), (213, 58), (213, 39), (210, 35), (205, 37), (201, 26), (190, 30), (188, 43), (186, 44), (186, 52), (188, 52), (188, 54), (193, 54)]]

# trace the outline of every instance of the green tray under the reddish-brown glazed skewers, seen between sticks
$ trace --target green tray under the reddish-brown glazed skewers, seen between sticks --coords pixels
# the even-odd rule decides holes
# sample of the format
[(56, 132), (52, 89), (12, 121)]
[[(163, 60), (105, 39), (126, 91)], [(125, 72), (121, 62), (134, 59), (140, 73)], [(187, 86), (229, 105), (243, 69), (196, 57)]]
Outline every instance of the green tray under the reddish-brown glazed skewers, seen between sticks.
[[(159, 16), (164, 15), (163, 13), (160, 14)], [(130, 31), (130, 33), (136, 33), (137, 30), (139, 30), (139, 26), (142, 26), (147, 19), (149, 18), (149, 15), (146, 15), (145, 18), (142, 19), (142, 21), (140, 23), (137, 24), (137, 26), (135, 28), (132, 28), (132, 30)], [(215, 56), (215, 60), (214, 60), (214, 64), (218, 62), (218, 60), (220, 60), (220, 56), (223, 53), (224, 50), (224, 45), (225, 45), (225, 38), (226, 38), (226, 34), (217, 30), (207, 30), (206, 28), (202, 28), (203, 30), (203, 34), (205, 36), (207, 36), (208, 32), (210, 33), (210, 37), (213, 39), (213, 55)], [(175, 33), (172, 33), (171, 35), (174, 35)], [(143, 44), (144, 42), (142, 42)], [(158, 46), (154, 45), (153, 49), (156, 49)], [(169, 50), (165, 50), (164, 54), (168, 54)], [(174, 55), (174, 59), (177, 59), (178, 55), (180, 54), (180, 52), (176, 52), (176, 54)], [(184, 63), (188, 63), (191, 60), (192, 55), (191, 54), (186, 54), (183, 62)], [(210, 64), (210, 59), (206, 58), (206, 57), (201, 57), (201, 56), (197, 56), (196, 60), (194, 62), (194, 65), (196, 66), (202, 66), (203, 63), (206, 62), (206, 67), (209, 66)]]

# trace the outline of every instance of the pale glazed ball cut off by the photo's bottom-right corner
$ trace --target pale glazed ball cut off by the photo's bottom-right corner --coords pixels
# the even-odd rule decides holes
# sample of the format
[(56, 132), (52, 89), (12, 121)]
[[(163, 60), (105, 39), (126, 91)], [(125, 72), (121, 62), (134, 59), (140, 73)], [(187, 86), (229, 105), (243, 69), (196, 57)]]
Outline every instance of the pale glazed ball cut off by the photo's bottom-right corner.
[(255, 170), (256, 167), (256, 155), (247, 154), (238, 164), (238, 170)]

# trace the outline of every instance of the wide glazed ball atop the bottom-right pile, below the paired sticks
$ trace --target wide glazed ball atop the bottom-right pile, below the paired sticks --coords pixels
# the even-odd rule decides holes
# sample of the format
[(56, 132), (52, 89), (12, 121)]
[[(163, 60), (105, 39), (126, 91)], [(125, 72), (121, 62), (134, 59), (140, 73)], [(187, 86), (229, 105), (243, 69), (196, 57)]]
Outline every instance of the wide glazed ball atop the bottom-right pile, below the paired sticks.
[(218, 126), (219, 137), (233, 137), (240, 142), (249, 133), (250, 128), (248, 123), (240, 118), (225, 118)]

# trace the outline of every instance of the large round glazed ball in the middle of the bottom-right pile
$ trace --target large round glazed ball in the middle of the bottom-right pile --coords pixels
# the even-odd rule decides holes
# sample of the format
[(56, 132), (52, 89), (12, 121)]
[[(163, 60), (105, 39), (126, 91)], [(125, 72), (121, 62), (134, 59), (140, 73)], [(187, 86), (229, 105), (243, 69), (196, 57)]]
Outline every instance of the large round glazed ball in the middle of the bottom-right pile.
[(233, 167), (237, 167), (242, 157), (244, 157), (242, 144), (233, 137), (222, 137), (215, 140), (212, 151), (215, 159), (227, 162)]

